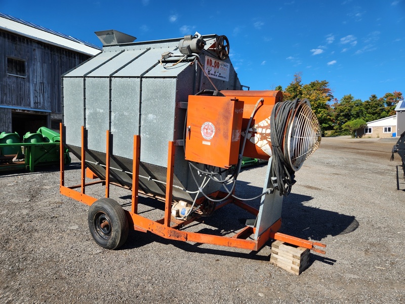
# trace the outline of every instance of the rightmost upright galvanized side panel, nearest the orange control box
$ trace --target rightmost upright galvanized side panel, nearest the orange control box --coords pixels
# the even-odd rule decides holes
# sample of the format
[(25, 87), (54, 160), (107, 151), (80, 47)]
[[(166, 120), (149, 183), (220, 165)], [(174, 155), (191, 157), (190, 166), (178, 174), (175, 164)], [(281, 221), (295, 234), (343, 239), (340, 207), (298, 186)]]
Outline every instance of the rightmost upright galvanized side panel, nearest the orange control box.
[(168, 142), (174, 140), (176, 78), (142, 81), (141, 162), (167, 167)]

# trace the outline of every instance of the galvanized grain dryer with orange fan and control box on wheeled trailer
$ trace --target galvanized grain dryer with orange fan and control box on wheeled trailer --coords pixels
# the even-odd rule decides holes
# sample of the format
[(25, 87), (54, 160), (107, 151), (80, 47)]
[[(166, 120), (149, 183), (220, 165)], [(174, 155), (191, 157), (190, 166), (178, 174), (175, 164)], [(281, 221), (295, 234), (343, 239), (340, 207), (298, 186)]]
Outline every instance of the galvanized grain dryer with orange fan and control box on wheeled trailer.
[[(90, 205), (100, 246), (117, 248), (134, 229), (249, 250), (272, 238), (323, 252), (313, 247), (323, 244), (278, 232), (282, 198), (320, 142), (308, 100), (242, 90), (223, 35), (138, 43), (114, 30), (97, 34), (103, 51), (62, 77), (62, 141), (81, 161), (82, 182), (65, 186), (61, 163), (60, 189)], [(268, 161), (263, 191), (251, 198), (259, 209), (235, 196), (242, 157)], [(104, 198), (86, 194), (98, 182), (86, 181), (86, 168), (105, 184)], [(130, 210), (109, 198), (111, 185), (132, 191)], [(161, 218), (138, 213), (138, 193), (163, 201)], [(187, 231), (229, 203), (256, 219), (232, 235)]]

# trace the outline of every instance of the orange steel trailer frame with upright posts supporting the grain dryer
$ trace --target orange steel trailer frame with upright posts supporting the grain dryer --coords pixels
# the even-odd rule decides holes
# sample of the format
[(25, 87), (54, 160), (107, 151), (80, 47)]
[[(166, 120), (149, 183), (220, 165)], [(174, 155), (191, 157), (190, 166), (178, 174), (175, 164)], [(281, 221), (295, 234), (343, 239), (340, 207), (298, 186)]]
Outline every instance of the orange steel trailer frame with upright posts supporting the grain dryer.
[[(110, 159), (110, 132), (107, 131), (107, 149), (106, 149), (106, 178), (105, 180), (95, 181), (86, 183), (86, 159), (85, 159), (85, 147), (86, 147), (86, 129), (82, 126), (82, 158), (81, 158), (81, 183), (75, 186), (65, 186), (64, 180), (64, 162), (63, 162), (63, 145), (64, 145), (64, 126), (60, 124), (60, 151), (61, 151), (61, 161), (60, 161), (60, 193), (69, 198), (72, 198), (76, 201), (83, 202), (87, 205), (92, 205), (96, 198), (91, 197), (85, 193), (86, 186), (104, 183), (105, 182), (105, 197), (109, 197), (109, 159)], [(248, 239), (252, 234), (255, 233), (255, 228), (251, 226), (246, 226), (244, 229), (241, 229), (232, 237), (226, 236), (215, 236), (208, 234), (201, 234), (195, 232), (187, 232), (184, 230), (179, 230), (180, 227), (187, 225), (188, 223), (195, 220), (192, 218), (186, 221), (179, 221), (171, 217), (171, 208), (172, 208), (172, 192), (173, 192), (173, 173), (174, 173), (174, 142), (169, 142), (169, 152), (168, 152), (168, 170), (167, 170), (167, 184), (166, 184), (166, 197), (165, 197), (165, 215), (164, 218), (154, 221), (143, 217), (138, 214), (138, 198), (139, 198), (139, 189), (138, 189), (138, 173), (139, 173), (139, 162), (140, 162), (140, 136), (134, 135), (134, 158), (133, 158), (133, 178), (132, 178), (132, 203), (131, 211), (125, 210), (128, 224), (130, 229), (134, 229), (141, 232), (154, 233), (158, 236), (161, 236), (170, 240), (180, 240), (180, 241), (189, 241), (196, 243), (206, 243), (226, 247), (235, 247), (248, 250), (259, 250), (262, 248), (269, 239), (280, 240), (286, 243), (301, 246), (304, 248), (312, 249), (315, 252), (325, 254), (324, 250), (315, 248), (314, 246), (326, 247), (325, 244), (312, 242), (308, 240), (303, 240), (300, 238), (292, 237), (286, 234), (279, 233), (278, 230), (281, 227), (281, 218), (278, 219), (271, 227), (269, 227), (262, 235), (258, 237), (257, 240)], [(80, 192), (76, 189), (80, 188)], [(220, 193), (221, 195), (221, 193)], [(224, 203), (216, 207), (216, 209), (228, 204), (233, 203), (236, 206), (245, 209), (246, 211), (257, 215), (259, 210), (253, 208), (236, 199), (228, 199)], [(174, 223), (174, 224), (172, 224)]]

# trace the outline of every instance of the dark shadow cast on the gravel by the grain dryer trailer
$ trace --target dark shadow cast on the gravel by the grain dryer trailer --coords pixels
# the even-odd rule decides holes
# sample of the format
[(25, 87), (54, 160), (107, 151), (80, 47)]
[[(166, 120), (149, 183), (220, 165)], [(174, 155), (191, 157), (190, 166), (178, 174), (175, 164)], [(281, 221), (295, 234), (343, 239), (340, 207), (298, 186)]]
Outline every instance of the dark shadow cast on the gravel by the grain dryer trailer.
[[(252, 188), (252, 187), (251, 187)], [(255, 187), (255, 192), (261, 191)], [(259, 192), (260, 193), (260, 192)], [(304, 203), (312, 200), (311, 196), (290, 194), (285, 198), (282, 208), (282, 226), (281, 233), (295, 236), (302, 239), (311, 239), (313, 241), (321, 241), (327, 236), (337, 236), (353, 232), (358, 227), (358, 221), (354, 216), (339, 214), (337, 212), (322, 210)], [(163, 209), (164, 204), (149, 198), (142, 198), (140, 203), (148, 205), (152, 208)], [(252, 203), (255, 207), (258, 202)], [(187, 231), (197, 231), (210, 235), (231, 236), (232, 233), (245, 227), (246, 219), (254, 218), (254, 216), (239, 207), (229, 204), (217, 210), (211, 217), (203, 217), (199, 222), (194, 222), (186, 227)], [(203, 224), (201, 229), (198, 225)], [(195, 252), (201, 254), (213, 254), (218, 256), (232, 256), (239, 258), (248, 258), (255, 260), (269, 260), (270, 255), (259, 254), (260, 251), (252, 252), (235, 252), (232, 249), (219, 247), (218, 249), (202, 248), (201, 244), (191, 244), (187, 242), (166, 240), (152, 233), (141, 233), (130, 231), (127, 243), (121, 249), (134, 249), (158, 242), (165, 245), (173, 245), (187, 252)], [(271, 246), (271, 242), (267, 243)], [(311, 255), (310, 264), (315, 260), (333, 265), (336, 260), (320, 256)]]

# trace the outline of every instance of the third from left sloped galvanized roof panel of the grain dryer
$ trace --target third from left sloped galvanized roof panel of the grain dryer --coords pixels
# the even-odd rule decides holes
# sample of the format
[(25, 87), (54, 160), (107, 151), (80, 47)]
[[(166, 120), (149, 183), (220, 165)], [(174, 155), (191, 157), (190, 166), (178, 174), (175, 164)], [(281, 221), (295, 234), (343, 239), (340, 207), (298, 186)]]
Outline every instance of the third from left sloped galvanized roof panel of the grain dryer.
[(172, 52), (173, 48), (151, 49), (138, 59), (131, 62), (129, 65), (114, 74), (115, 77), (134, 77), (140, 76), (158, 64), (161, 54), (165, 52)]

